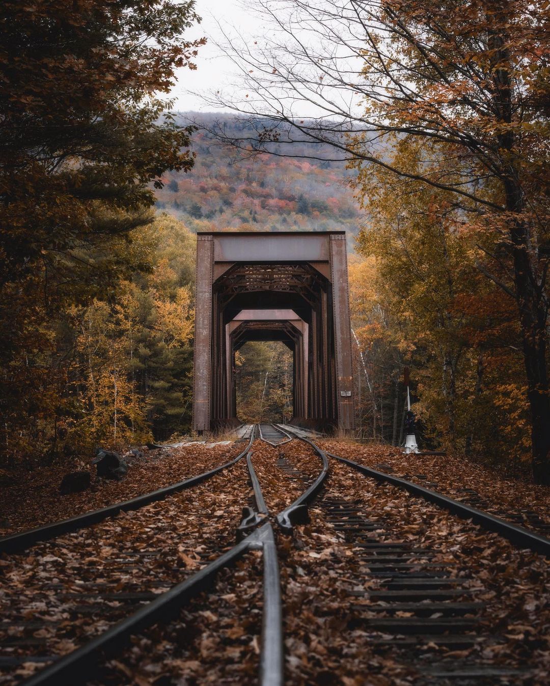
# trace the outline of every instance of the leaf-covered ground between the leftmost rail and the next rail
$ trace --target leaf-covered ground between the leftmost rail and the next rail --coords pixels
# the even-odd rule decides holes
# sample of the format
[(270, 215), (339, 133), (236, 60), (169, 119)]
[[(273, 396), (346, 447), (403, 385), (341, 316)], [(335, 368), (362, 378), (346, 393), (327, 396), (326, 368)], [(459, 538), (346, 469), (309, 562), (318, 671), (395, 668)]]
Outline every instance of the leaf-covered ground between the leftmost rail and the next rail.
[[(3, 657), (65, 654), (146, 600), (125, 593), (156, 594), (181, 582), (234, 544), (248, 493), (242, 460), (158, 503), (45, 541), (24, 554), (4, 555), (0, 643), (13, 645), (2, 646)], [(23, 638), (34, 644), (19, 646)], [(16, 676), (37, 666), (26, 663)], [(8, 672), (0, 683), (11, 678)]]

